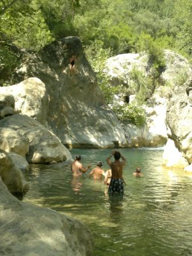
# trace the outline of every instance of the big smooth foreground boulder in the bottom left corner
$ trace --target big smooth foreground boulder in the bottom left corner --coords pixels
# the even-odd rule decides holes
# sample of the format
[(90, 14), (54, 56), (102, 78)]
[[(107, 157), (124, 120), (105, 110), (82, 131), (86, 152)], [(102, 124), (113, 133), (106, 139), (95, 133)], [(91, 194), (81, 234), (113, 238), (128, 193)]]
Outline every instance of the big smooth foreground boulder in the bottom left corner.
[(22, 203), (0, 177), (0, 254), (90, 256), (93, 237), (77, 220), (51, 209)]

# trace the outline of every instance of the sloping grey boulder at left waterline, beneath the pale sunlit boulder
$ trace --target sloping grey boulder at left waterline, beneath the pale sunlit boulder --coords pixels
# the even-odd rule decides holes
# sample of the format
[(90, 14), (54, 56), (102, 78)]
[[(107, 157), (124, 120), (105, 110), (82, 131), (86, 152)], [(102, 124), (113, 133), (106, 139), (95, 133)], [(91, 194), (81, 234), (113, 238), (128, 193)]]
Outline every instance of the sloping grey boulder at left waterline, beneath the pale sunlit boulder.
[[(59, 138), (48, 131), (44, 125), (27, 115), (7, 116), (0, 120), (0, 127), (19, 132), (29, 141), (28, 163), (51, 163), (71, 159), (70, 152)], [(15, 152), (17, 153), (17, 152)]]

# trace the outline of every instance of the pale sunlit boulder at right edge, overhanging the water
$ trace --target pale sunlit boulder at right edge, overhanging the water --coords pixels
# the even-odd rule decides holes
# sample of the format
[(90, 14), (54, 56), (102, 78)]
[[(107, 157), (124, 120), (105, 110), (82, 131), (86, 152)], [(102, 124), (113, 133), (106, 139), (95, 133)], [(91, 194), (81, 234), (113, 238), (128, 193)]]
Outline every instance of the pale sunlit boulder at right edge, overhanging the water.
[[(182, 156), (192, 163), (192, 79), (176, 86), (166, 112), (169, 137)], [(184, 166), (183, 166), (184, 167)]]

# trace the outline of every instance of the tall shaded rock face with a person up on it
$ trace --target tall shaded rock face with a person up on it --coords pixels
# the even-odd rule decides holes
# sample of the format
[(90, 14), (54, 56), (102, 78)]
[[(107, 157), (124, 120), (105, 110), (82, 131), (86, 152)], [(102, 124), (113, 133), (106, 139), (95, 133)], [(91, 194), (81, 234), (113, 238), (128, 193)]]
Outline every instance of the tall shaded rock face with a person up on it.
[[(75, 65), (71, 67), (70, 61), (74, 56)], [(15, 72), (15, 79), (22, 81), (29, 77), (38, 77), (45, 84), (48, 97), (47, 115), (44, 115), (46, 125), (61, 143), (68, 147), (95, 148), (126, 145), (118, 119), (111, 109), (104, 106), (104, 96), (79, 38), (63, 38), (36, 54), (29, 54)], [(25, 90), (28, 94), (25, 99), (31, 95), (32, 89), (29, 86)], [(33, 107), (34, 104), (31, 105)], [(20, 111), (26, 114), (22, 108)], [(45, 123), (36, 115), (33, 118)]]

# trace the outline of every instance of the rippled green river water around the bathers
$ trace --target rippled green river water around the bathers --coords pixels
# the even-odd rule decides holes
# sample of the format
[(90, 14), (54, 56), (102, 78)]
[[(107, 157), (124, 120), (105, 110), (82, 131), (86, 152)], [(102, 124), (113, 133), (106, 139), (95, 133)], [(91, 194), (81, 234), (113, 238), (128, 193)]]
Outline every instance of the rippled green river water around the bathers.
[[(192, 255), (192, 174), (164, 170), (163, 150), (122, 149), (127, 159), (123, 198), (109, 198), (104, 184), (70, 166), (33, 165), (24, 202), (49, 207), (85, 223), (95, 237), (94, 256)], [(111, 150), (72, 150), (82, 163), (104, 163)], [(141, 166), (143, 177), (132, 172)]]

